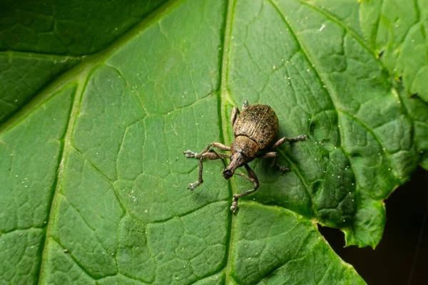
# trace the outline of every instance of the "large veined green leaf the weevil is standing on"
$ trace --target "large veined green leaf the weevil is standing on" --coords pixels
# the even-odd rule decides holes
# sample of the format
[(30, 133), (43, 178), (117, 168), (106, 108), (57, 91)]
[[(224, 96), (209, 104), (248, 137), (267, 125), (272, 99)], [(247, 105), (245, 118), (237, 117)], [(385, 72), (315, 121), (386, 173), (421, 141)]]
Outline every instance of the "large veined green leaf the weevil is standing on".
[[(366, 4), (163, 2), (1, 11), (0, 283), (364, 284), (317, 224), (375, 247), (383, 200), (428, 169), (428, 105), (377, 58)], [(250, 183), (208, 161), (190, 192), (183, 150), (230, 144), (245, 99), (309, 140), (278, 150), (290, 172), (252, 162), (232, 214)]]

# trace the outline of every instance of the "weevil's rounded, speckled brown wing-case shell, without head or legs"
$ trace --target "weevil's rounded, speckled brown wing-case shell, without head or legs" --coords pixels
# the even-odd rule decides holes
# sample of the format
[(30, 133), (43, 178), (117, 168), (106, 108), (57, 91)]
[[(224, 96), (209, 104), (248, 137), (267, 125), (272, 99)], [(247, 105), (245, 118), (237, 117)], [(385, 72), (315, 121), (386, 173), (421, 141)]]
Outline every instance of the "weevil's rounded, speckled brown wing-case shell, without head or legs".
[(260, 150), (270, 145), (278, 132), (278, 118), (268, 105), (255, 104), (245, 108), (233, 124), (235, 137), (245, 135), (258, 143)]

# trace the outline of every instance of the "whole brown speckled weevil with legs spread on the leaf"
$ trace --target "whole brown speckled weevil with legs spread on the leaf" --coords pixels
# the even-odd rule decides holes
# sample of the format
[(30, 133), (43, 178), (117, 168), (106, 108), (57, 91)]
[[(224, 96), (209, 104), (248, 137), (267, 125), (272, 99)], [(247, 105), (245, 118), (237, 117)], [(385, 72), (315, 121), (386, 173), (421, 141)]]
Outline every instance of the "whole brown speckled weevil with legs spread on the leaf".
[[(186, 157), (194, 157), (199, 160), (198, 181), (190, 183), (188, 187), (189, 190), (193, 191), (203, 183), (203, 160), (206, 159), (223, 160), (223, 158), (228, 158), (230, 160), (229, 165), (226, 165), (223, 160), (223, 164), (225, 165), (225, 169), (222, 172), (223, 177), (225, 177), (226, 180), (229, 180), (230, 177), (235, 174), (242, 176), (253, 183), (253, 189), (247, 190), (241, 194), (233, 195), (232, 206), (230, 207), (230, 210), (233, 212), (236, 212), (238, 209), (238, 199), (254, 193), (260, 187), (258, 177), (250, 168), (248, 162), (253, 161), (256, 157), (262, 159), (271, 157), (273, 158), (272, 167), (277, 167), (281, 172), (287, 172), (290, 170), (289, 168), (276, 164), (277, 152), (266, 150), (275, 149), (280, 146), (282, 142), (307, 140), (307, 135), (299, 135), (295, 138), (283, 137), (272, 143), (279, 128), (278, 118), (274, 110), (272, 110), (269, 105), (248, 105), (247, 100), (245, 100), (242, 108), (242, 112), (240, 112), (238, 107), (234, 107), (232, 110), (230, 123), (232, 123), (233, 126), (235, 140), (233, 140), (230, 147), (228, 145), (223, 145), (223, 143), (220, 142), (211, 142), (201, 152), (193, 152), (191, 150), (184, 151)], [(211, 147), (229, 151), (230, 155), (211, 150)], [(235, 173), (235, 170), (242, 166), (247, 170), (248, 176), (243, 173)]]

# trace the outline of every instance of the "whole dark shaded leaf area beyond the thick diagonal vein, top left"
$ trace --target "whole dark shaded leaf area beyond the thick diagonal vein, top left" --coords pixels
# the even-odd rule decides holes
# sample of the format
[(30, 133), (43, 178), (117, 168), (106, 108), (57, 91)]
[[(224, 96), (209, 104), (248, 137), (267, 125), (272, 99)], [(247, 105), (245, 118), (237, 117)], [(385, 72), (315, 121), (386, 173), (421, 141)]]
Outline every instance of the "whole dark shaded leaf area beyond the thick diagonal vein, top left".
[(0, 123), (46, 83), (86, 54), (106, 48), (163, 2), (6, 1), (0, 10), (0, 52), (14, 52), (0, 53)]

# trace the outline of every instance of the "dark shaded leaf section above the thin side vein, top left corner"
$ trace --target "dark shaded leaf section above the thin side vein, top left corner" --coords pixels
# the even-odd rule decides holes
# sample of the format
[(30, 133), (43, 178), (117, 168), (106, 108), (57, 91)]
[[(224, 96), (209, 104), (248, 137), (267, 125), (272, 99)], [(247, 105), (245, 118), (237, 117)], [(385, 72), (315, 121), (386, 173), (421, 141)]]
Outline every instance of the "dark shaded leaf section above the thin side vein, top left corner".
[(0, 50), (95, 53), (165, 1), (6, 0), (0, 11)]

